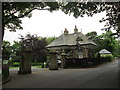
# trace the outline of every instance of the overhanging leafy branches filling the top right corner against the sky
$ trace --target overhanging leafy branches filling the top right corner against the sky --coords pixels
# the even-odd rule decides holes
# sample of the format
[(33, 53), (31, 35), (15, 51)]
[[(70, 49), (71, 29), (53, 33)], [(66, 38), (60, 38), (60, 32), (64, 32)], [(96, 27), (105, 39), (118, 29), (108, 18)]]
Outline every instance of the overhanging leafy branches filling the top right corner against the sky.
[(67, 2), (62, 3), (61, 9), (65, 14), (72, 13), (76, 18), (84, 17), (85, 14), (93, 16), (96, 13), (106, 11), (107, 18), (100, 20), (100, 22), (107, 21), (104, 30), (109, 31), (113, 27), (116, 33), (112, 35), (120, 35), (119, 2)]

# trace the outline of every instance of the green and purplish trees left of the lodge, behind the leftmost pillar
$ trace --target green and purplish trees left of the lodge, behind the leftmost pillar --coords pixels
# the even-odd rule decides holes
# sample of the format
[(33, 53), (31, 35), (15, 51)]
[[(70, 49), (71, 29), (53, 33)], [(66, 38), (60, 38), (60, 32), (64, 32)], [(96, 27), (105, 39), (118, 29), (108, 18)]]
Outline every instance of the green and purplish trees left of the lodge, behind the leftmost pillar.
[[(22, 37), (22, 36), (21, 36)], [(51, 43), (53, 40), (55, 40), (56, 37), (38, 37), (37, 35), (26, 35), (25, 37), (22, 37), (22, 40), (20, 42), (14, 41), (13, 45), (10, 45), (10, 42), (3, 41), (2, 44), (2, 50), (3, 60), (9, 60), (9, 64), (11, 66), (18, 66), (18, 63), (21, 60), (21, 54), (22, 54), (22, 45), (27, 48), (27, 40), (30, 40), (29, 47), (32, 49), (32, 62), (39, 62), (43, 63), (47, 61), (47, 50), (46, 45)], [(15, 62), (15, 63), (14, 63)], [(33, 65), (37, 65), (33, 64)]]

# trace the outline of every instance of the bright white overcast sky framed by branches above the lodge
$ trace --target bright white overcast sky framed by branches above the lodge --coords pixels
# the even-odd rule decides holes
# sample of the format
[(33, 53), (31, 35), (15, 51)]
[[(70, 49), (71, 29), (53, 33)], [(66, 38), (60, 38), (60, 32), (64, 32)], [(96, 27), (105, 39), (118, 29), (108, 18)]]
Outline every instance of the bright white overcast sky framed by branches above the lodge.
[(65, 28), (68, 29), (69, 33), (73, 33), (75, 25), (78, 31), (82, 31), (83, 34), (96, 31), (100, 35), (104, 32), (101, 29), (105, 23), (99, 23), (99, 20), (103, 17), (106, 17), (105, 12), (95, 14), (93, 17), (85, 16), (76, 19), (72, 15), (66, 15), (60, 10), (52, 13), (46, 10), (34, 10), (31, 18), (26, 17), (22, 19), (23, 30), (17, 30), (17, 32), (6, 30), (4, 40), (13, 43), (14, 40), (19, 40), (19, 34), (25, 36), (28, 32), (42, 37), (58, 37)]

